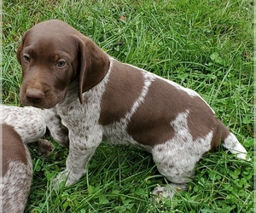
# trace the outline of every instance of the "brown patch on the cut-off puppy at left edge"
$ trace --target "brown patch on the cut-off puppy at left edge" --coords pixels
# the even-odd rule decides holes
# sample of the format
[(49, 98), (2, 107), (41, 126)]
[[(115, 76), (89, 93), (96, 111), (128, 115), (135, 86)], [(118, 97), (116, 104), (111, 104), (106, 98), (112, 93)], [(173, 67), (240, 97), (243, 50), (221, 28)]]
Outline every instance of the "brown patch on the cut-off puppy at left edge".
[(19, 160), (24, 164), (28, 164), (26, 158), (26, 149), (21, 140), (20, 135), (15, 131), (14, 127), (2, 124), (3, 131), (3, 176), (9, 169), (9, 163)]

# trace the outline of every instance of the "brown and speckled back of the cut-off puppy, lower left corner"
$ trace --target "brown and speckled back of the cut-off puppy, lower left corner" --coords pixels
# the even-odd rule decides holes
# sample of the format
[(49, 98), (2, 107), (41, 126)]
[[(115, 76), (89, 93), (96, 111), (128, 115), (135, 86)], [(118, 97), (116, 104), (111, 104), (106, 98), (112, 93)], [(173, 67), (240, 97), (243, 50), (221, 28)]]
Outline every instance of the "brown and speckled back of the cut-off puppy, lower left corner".
[(15, 129), (2, 124), (2, 212), (23, 212), (32, 183), (32, 160)]

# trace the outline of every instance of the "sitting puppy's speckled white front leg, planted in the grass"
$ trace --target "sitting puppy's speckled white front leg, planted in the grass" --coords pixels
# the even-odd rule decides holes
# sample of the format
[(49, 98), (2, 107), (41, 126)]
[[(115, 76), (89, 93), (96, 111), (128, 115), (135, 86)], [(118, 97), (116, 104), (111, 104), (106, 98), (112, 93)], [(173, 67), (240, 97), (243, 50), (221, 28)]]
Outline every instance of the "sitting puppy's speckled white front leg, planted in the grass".
[(61, 181), (67, 180), (66, 186), (69, 186), (84, 176), (91, 156), (95, 153), (96, 147), (102, 141), (102, 131), (96, 130), (93, 134), (86, 133), (78, 135), (69, 130), (69, 140), (66, 169), (56, 176), (54, 180), (56, 185)]

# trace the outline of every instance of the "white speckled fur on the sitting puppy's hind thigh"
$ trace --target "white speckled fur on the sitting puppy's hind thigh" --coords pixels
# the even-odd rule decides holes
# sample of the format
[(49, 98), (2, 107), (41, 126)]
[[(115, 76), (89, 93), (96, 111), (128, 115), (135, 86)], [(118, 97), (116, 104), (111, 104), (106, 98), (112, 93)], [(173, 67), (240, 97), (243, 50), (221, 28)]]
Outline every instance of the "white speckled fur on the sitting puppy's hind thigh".
[(211, 149), (212, 131), (193, 141), (187, 124), (188, 115), (189, 110), (179, 113), (171, 122), (175, 136), (164, 144), (154, 146), (152, 151), (160, 173), (176, 183), (188, 182), (188, 177), (194, 174), (195, 164)]

